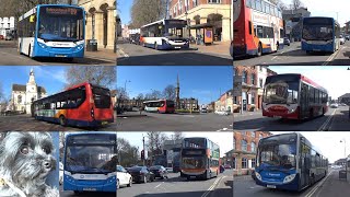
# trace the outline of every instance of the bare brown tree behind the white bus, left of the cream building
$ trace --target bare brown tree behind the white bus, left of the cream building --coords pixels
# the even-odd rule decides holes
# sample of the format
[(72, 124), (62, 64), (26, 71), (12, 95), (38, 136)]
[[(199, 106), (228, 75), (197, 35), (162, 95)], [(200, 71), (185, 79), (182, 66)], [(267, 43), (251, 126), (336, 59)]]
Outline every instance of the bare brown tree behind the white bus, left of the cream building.
[(133, 0), (131, 7), (131, 25), (141, 27), (144, 24), (165, 18), (166, 0)]

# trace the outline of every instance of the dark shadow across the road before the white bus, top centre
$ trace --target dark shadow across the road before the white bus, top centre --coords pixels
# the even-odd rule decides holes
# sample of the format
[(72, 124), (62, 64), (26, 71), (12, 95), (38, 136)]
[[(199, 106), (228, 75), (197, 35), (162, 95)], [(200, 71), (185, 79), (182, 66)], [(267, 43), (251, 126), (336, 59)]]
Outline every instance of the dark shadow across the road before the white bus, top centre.
[[(176, 58), (174, 58), (176, 56)], [(186, 66), (232, 66), (232, 58), (223, 58), (199, 53), (159, 54), (117, 58), (118, 66), (154, 66), (154, 65), (186, 65)]]

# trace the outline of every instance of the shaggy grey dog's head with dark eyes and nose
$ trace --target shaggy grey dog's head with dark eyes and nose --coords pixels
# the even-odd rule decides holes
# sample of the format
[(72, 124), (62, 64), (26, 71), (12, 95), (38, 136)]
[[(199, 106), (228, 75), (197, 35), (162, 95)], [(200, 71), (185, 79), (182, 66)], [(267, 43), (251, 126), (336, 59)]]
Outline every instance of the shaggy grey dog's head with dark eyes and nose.
[(56, 169), (48, 132), (8, 132), (0, 142), (0, 196), (58, 197), (47, 175)]

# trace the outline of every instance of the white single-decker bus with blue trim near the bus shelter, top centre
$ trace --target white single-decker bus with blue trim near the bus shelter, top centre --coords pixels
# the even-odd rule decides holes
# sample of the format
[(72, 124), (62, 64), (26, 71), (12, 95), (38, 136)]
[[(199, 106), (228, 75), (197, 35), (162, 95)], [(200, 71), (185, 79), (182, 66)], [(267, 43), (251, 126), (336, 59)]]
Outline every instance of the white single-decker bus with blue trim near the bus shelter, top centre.
[(186, 21), (177, 19), (163, 19), (143, 25), (140, 44), (156, 50), (189, 48), (189, 39), (184, 36), (186, 26)]

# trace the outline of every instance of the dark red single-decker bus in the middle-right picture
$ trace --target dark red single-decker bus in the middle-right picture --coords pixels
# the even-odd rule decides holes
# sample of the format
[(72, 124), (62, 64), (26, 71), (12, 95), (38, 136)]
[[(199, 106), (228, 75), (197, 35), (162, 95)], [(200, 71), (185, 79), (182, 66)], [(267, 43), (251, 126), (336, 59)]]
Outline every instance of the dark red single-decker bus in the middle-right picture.
[(262, 116), (306, 119), (323, 116), (327, 111), (327, 90), (311, 79), (299, 73), (266, 78)]

